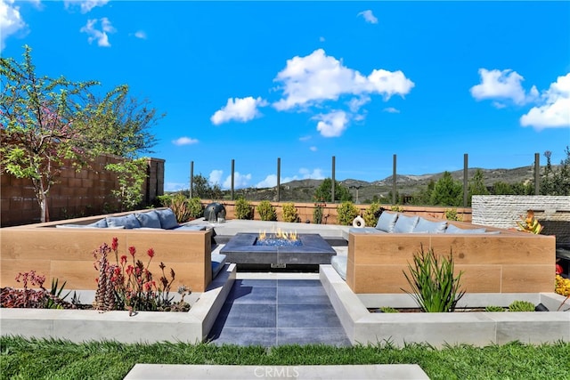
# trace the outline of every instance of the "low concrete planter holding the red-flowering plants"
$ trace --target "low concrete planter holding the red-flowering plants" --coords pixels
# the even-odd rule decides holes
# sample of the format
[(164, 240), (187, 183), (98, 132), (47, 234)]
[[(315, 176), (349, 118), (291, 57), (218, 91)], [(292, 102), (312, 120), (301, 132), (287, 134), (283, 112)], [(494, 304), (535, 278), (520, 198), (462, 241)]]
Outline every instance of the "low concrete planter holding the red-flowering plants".
[(122, 343), (199, 343), (208, 336), (232, 289), (235, 264), (226, 264), (188, 312), (0, 309), (3, 336), (116, 340)]

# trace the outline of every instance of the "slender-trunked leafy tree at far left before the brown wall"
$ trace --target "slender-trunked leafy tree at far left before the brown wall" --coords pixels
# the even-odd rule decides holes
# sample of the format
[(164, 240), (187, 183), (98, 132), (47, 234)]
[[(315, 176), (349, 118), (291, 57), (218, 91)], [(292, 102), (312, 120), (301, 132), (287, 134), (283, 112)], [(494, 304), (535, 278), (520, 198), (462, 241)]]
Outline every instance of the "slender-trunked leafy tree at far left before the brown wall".
[(97, 82), (38, 77), (29, 46), (21, 63), (0, 58), (0, 77), (0, 170), (31, 180), (46, 222), (47, 197), (61, 170), (85, 163), (89, 142), (82, 104)]

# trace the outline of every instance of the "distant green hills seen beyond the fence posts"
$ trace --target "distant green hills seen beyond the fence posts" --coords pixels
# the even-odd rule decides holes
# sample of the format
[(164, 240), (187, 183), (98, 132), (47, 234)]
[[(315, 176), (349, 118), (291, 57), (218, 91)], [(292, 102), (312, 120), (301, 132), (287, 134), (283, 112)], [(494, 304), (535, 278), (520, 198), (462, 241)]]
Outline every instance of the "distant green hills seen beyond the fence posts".
[[(471, 179), (477, 168), (468, 169), (468, 178)], [(492, 186), (495, 182), (520, 183), (531, 181), (533, 179), (533, 166), (517, 167), (514, 169), (481, 169), (484, 174), (485, 185)], [(456, 180), (463, 181), (463, 170), (450, 172)], [(412, 195), (422, 188), (428, 186), (430, 181), (437, 181), (444, 175), (436, 174), (397, 174), (396, 187), (402, 195)], [(338, 180), (337, 180), (338, 181)], [(356, 201), (356, 190), (358, 190), (358, 201), (364, 202), (366, 199), (372, 199), (375, 195), (378, 197), (387, 197), (388, 192), (392, 190), (392, 176), (374, 182), (366, 182), (355, 179), (346, 179), (338, 181), (348, 188), (353, 194)], [(281, 202), (313, 202), (314, 190), (318, 188), (322, 180), (295, 180), (291, 182), (281, 183), (280, 200)], [(276, 200), (277, 189), (247, 189), (239, 190), (238, 194), (244, 195), (249, 200)]]

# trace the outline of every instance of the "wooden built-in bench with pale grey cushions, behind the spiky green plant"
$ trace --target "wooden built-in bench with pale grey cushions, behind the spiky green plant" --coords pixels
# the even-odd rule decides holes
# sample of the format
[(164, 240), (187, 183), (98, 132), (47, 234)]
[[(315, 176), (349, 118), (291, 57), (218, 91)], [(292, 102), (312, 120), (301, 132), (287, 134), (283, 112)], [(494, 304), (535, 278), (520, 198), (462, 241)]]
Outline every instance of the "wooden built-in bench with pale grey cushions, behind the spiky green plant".
[(470, 293), (552, 292), (556, 238), (467, 222), (384, 212), (376, 227), (349, 230), (348, 255), (331, 264), (354, 293), (411, 290), (403, 272), (423, 247), (452, 253)]

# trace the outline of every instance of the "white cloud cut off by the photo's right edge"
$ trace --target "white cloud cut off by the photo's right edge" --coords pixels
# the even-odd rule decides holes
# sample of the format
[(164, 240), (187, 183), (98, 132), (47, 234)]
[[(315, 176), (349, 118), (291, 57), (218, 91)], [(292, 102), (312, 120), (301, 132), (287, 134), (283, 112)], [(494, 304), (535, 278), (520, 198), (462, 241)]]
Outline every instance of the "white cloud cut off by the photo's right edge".
[(570, 73), (550, 84), (542, 93), (541, 101), (542, 105), (533, 107), (520, 118), (521, 125), (538, 130), (570, 126)]

